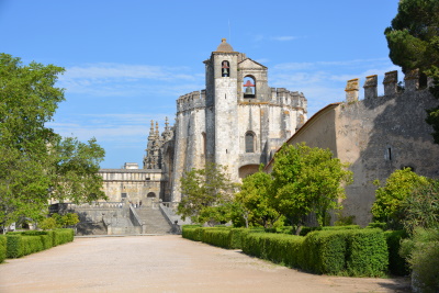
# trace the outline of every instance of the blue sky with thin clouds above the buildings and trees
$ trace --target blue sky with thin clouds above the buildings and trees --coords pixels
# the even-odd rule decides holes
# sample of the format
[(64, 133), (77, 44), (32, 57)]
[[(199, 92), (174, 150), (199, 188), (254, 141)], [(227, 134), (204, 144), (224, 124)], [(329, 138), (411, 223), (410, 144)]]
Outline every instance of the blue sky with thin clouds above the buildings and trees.
[(382, 83), (398, 69), (383, 35), (397, 3), (0, 0), (0, 52), (65, 67), (66, 101), (48, 125), (95, 137), (102, 168), (142, 166), (150, 120), (173, 124), (178, 97), (205, 88), (202, 61), (222, 37), (267, 66), (271, 87), (303, 92), (311, 117), (345, 99), (348, 79)]

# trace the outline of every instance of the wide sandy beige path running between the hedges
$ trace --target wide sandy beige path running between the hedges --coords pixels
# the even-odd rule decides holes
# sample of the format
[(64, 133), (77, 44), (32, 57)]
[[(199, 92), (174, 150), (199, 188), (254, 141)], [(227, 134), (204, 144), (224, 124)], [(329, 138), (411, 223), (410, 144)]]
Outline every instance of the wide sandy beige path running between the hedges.
[(395, 279), (314, 275), (181, 236), (76, 238), (0, 264), (0, 292), (405, 292)]

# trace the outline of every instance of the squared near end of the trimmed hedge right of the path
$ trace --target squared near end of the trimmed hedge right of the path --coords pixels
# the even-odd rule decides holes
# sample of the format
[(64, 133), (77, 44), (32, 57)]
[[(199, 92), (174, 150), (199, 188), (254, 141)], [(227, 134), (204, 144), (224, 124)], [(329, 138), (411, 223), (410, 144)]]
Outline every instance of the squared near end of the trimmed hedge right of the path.
[(353, 277), (381, 277), (387, 270), (389, 251), (381, 229), (352, 229), (347, 255), (348, 273)]

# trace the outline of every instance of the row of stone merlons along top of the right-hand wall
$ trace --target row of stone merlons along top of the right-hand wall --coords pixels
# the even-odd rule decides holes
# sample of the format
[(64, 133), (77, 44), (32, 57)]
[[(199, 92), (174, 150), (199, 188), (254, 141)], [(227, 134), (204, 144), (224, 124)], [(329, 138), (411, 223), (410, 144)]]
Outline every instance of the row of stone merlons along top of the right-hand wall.
[[(398, 84), (398, 76), (397, 71), (389, 71), (385, 72), (384, 79), (383, 79), (383, 86), (384, 86), (384, 95), (395, 95), (402, 92), (414, 92), (417, 90), (420, 90), (419, 88), (419, 69), (414, 69), (409, 70), (405, 77), (404, 77), (404, 87)], [(432, 80), (428, 79), (427, 84), (425, 84), (427, 88), (431, 87)], [(378, 98), (378, 76), (368, 76), (365, 77), (364, 81), (364, 100), (369, 99), (375, 99)], [(360, 89), (360, 79), (354, 78), (350, 79), (347, 81), (346, 84), (346, 100), (348, 102), (354, 102), (358, 101), (358, 93)], [(424, 88), (423, 88), (424, 89)]]

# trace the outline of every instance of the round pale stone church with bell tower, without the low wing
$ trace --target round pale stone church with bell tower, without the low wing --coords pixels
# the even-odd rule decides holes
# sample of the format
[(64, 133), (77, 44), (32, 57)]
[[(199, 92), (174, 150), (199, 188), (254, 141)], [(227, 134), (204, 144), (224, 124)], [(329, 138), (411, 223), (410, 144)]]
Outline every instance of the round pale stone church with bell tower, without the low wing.
[(270, 88), (268, 68), (235, 52), (225, 38), (204, 65), (205, 90), (177, 100), (173, 162), (168, 168), (170, 199), (177, 202), (185, 171), (212, 161), (239, 181), (267, 164), (306, 121), (303, 93)]

